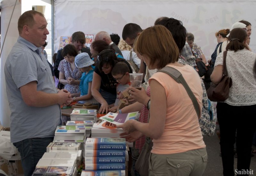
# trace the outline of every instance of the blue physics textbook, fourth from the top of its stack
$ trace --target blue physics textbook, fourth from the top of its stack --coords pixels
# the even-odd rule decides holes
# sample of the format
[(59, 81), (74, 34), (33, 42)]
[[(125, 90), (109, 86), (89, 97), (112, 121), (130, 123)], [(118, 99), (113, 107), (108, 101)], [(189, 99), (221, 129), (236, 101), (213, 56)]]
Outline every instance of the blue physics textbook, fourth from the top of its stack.
[(84, 170), (125, 170), (125, 164), (85, 164)]

